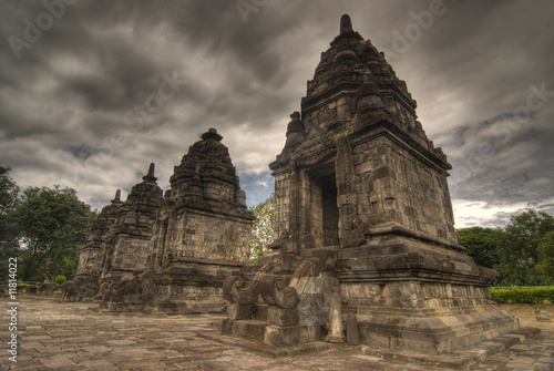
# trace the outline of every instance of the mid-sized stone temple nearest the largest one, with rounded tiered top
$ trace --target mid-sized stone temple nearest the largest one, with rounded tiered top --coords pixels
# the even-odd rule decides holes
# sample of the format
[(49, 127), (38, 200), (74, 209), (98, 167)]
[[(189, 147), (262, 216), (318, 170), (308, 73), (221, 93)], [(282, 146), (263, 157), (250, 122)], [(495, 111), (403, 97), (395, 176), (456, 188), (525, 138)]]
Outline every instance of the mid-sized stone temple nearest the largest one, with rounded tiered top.
[(220, 312), (224, 278), (248, 265), (254, 215), (222, 138), (202, 135), (170, 179), (150, 255), (157, 310)]

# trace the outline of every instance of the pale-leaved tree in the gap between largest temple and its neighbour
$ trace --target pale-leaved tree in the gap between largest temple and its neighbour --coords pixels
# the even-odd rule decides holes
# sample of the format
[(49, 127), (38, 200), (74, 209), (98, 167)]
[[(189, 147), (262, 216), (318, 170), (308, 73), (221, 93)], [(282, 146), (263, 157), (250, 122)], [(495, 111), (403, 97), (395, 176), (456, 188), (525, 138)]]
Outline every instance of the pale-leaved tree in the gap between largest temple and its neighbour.
[(274, 212), (275, 198), (270, 195), (261, 204), (252, 207), (256, 220), (252, 226), (250, 264), (256, 265), (261, 256), (267, 253), (267, 246), (274, 240)]

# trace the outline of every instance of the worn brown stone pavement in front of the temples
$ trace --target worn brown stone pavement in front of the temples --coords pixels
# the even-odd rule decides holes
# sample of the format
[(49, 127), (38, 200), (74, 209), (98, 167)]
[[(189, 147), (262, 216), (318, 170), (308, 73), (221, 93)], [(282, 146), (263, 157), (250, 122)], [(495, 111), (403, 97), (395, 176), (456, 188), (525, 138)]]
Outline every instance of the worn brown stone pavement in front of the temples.
[[(8, 298), (1, 302), (8, 308)], [(514, 333), (471, 351), (440, 357), (328, 343), (273, 349), (219, 336), (223, 316), (115, 313), (98, 303), (21, 297), (18, 362), (9, 360), (12, 332), (0, 311), (0, 370), (552, 370), (554, 332), (523, 343)], [(250, 346), (248, 350), (245, 346)], [(503, 349), (504, 347), (510, 347)], [(501, 349), (500, 352), (493, 352)], [(502, 350), (503, 349), (503, 350)], [(316, 351), (315, 351), (316, 350)], [(475, 360), (480, 360), (475, 363)]]

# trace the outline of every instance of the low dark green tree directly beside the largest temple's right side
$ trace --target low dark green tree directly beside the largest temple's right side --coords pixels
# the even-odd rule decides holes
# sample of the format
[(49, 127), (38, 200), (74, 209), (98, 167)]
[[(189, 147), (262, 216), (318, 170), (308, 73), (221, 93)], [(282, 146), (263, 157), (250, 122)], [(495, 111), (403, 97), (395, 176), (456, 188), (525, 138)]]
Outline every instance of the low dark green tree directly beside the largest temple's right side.
[(499, 264), (496, 256), (496, 243), (500, 235), (499, 229), (472, 227), (458, 229), (458, 241), (465, 247), (469, 255), (478, 266), (494, 268)]

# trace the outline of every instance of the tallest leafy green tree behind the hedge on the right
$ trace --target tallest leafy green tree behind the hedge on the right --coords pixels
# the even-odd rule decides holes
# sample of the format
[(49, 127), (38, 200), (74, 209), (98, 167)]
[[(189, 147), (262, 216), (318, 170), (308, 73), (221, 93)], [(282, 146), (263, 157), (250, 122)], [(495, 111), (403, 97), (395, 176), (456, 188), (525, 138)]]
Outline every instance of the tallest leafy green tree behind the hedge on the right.
[(533, 286), (543, 280), (535, 266), (541, 261), (538, 244), (554, 230), (554, 217), (529, 209), (511, 218), (496, 246), (501, 285)]

